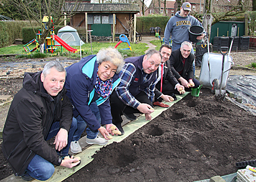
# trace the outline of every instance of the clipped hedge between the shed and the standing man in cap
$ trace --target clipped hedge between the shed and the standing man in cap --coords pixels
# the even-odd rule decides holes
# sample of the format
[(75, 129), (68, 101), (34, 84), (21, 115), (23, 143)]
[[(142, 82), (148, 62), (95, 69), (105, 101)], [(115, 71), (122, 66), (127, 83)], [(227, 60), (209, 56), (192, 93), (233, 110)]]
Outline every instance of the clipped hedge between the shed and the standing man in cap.
[(141, 16), (137, 17), (137, 32), (150, 32), (150, 27), (160, 27), (164, 32), (169, 16)]

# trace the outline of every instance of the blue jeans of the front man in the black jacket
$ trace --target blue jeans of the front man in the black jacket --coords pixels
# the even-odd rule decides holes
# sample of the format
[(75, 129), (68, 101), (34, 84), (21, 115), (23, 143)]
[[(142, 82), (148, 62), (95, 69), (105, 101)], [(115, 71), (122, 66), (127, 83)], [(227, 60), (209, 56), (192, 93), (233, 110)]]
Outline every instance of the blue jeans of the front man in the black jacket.
[[(68, 133), (68, 144), (63, 148), (63, 150), (57, 151), (58, 155), (68, 155), (71, 139), (76, 129), (77, 123), (73, 120)], [(51, 129), (49, 130), (46, 140), (55, 137), (59, 130), (60, 122), (53, 123)], [(40, 181), (45, 181), (52, 176), (53, 172), (55, 171), (55, 167), (51, 162), (48, 162), (48, 160), (36, 154), (34, 158), (31, 160), (31, 162), (28, 164), (26, 171), (28, 175), (30, 175), (31, 177), (34, 177), (35, 179)]]

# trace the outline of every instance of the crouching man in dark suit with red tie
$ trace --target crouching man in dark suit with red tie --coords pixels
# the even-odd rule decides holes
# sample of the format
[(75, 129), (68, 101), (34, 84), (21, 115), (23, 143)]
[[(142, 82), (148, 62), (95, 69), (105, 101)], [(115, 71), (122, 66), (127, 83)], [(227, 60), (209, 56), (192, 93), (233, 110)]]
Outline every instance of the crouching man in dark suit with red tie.
[(159, 52), (162, 55), (162, 62), (156, 71), (158, 79), (155, 85), (155, 102), (153, 102), (153, 105), (169, 107), (169, 105), (163, 104), (162, 101), (171, 102), (170, 98), (172, 97), (177, 100), (174, 94), (175, 89), (182, 88), (184, 90), (184, 86), (179, 84), (171, 71), (169, 60), (172, 52), (171, 46), (164, 44), (160, 47)]

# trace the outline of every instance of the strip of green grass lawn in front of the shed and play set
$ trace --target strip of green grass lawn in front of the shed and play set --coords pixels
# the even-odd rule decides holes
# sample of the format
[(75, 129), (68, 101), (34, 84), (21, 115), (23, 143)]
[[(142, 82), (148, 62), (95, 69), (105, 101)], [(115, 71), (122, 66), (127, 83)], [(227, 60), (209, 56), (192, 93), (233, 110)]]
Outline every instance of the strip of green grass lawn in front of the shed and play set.
[[(108, 47), (114, 48), (115, 44), (117, 44), (117, 43), (92, 42), (92, 51), (91, 51), (90, 43), (85, 43), (84, 45), (81, 46), (81, 49), (84, 50), (84, 51), (82, 51), (82, 57), (91, 55), (92, 52), (93, 52), (93, 54), (97, 54), (97, 52), (101, 48), (108, 48)], [(132, 51), (130, 51), (130, 49), (125, 49), (125, 48), (128, 48), (126, 43), (121, 43), (121, 44), (119, 44), (117, 49), (119, 50), (119, 52), (121, 52), (123, 58), (125, 59), (126, 57), (134, 57), (134, 56), (143, 55), (144, 52), (148, 49), (148, 47), (146, 47), (146, 46), (147, 46), (146, 43), (131, 44)], [(31, 44), (29, 46), (30, 49), (33, 49), (34, 47), (35, 47), (35, 44)], [(76, 48), (76, 49), (80, 49), (80, 46), (72, 46), (72, 47)], [(26, 49), (27, 49), (27, 47), (26, 47)], [(47, 54), (39, 53), (39, 49), (38, 49), (38, 51), (36, 50), (34, 52), (26, 52), (23, 48), (23, 45), (15, 45), (15, 46), (0, 48), (0, 55), (6, 55), (6, 54), (19, 54), (18, 56), (16, 56), (17, 58), (23, 58), (23, 57), (27, 57), (27, 58), (41, 58), (42, 57), (42, 58), (44, 58), (44, 57), (52, 57), (52, 56), (67, 56), (67, 57), (77, 57), (80, 59), (80, 52), (70, 53), (65, 48), (63, 48), (63, 52), (61, 52), (60, 47), (57, 47), (56, 52), (47, 53)]]

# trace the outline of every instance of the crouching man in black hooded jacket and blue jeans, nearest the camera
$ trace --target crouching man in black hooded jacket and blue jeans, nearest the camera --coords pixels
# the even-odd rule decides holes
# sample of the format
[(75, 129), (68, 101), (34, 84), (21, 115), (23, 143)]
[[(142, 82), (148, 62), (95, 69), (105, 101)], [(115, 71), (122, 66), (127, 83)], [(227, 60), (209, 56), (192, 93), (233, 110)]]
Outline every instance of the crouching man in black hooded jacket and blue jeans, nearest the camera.
[[(24, 180), (47, 180), (55, 170), (53, 165), (72, 168), (80, 163), (73, 157), (63, 160), (77, 128), (63, 88), (65, 76), (58, 61), (47, 63), (43, 72), (26, 73), (23, 88), (11, 103), (2, 150), (15, 175)], [(56, 151), (46, 142), (52, 137)]]

